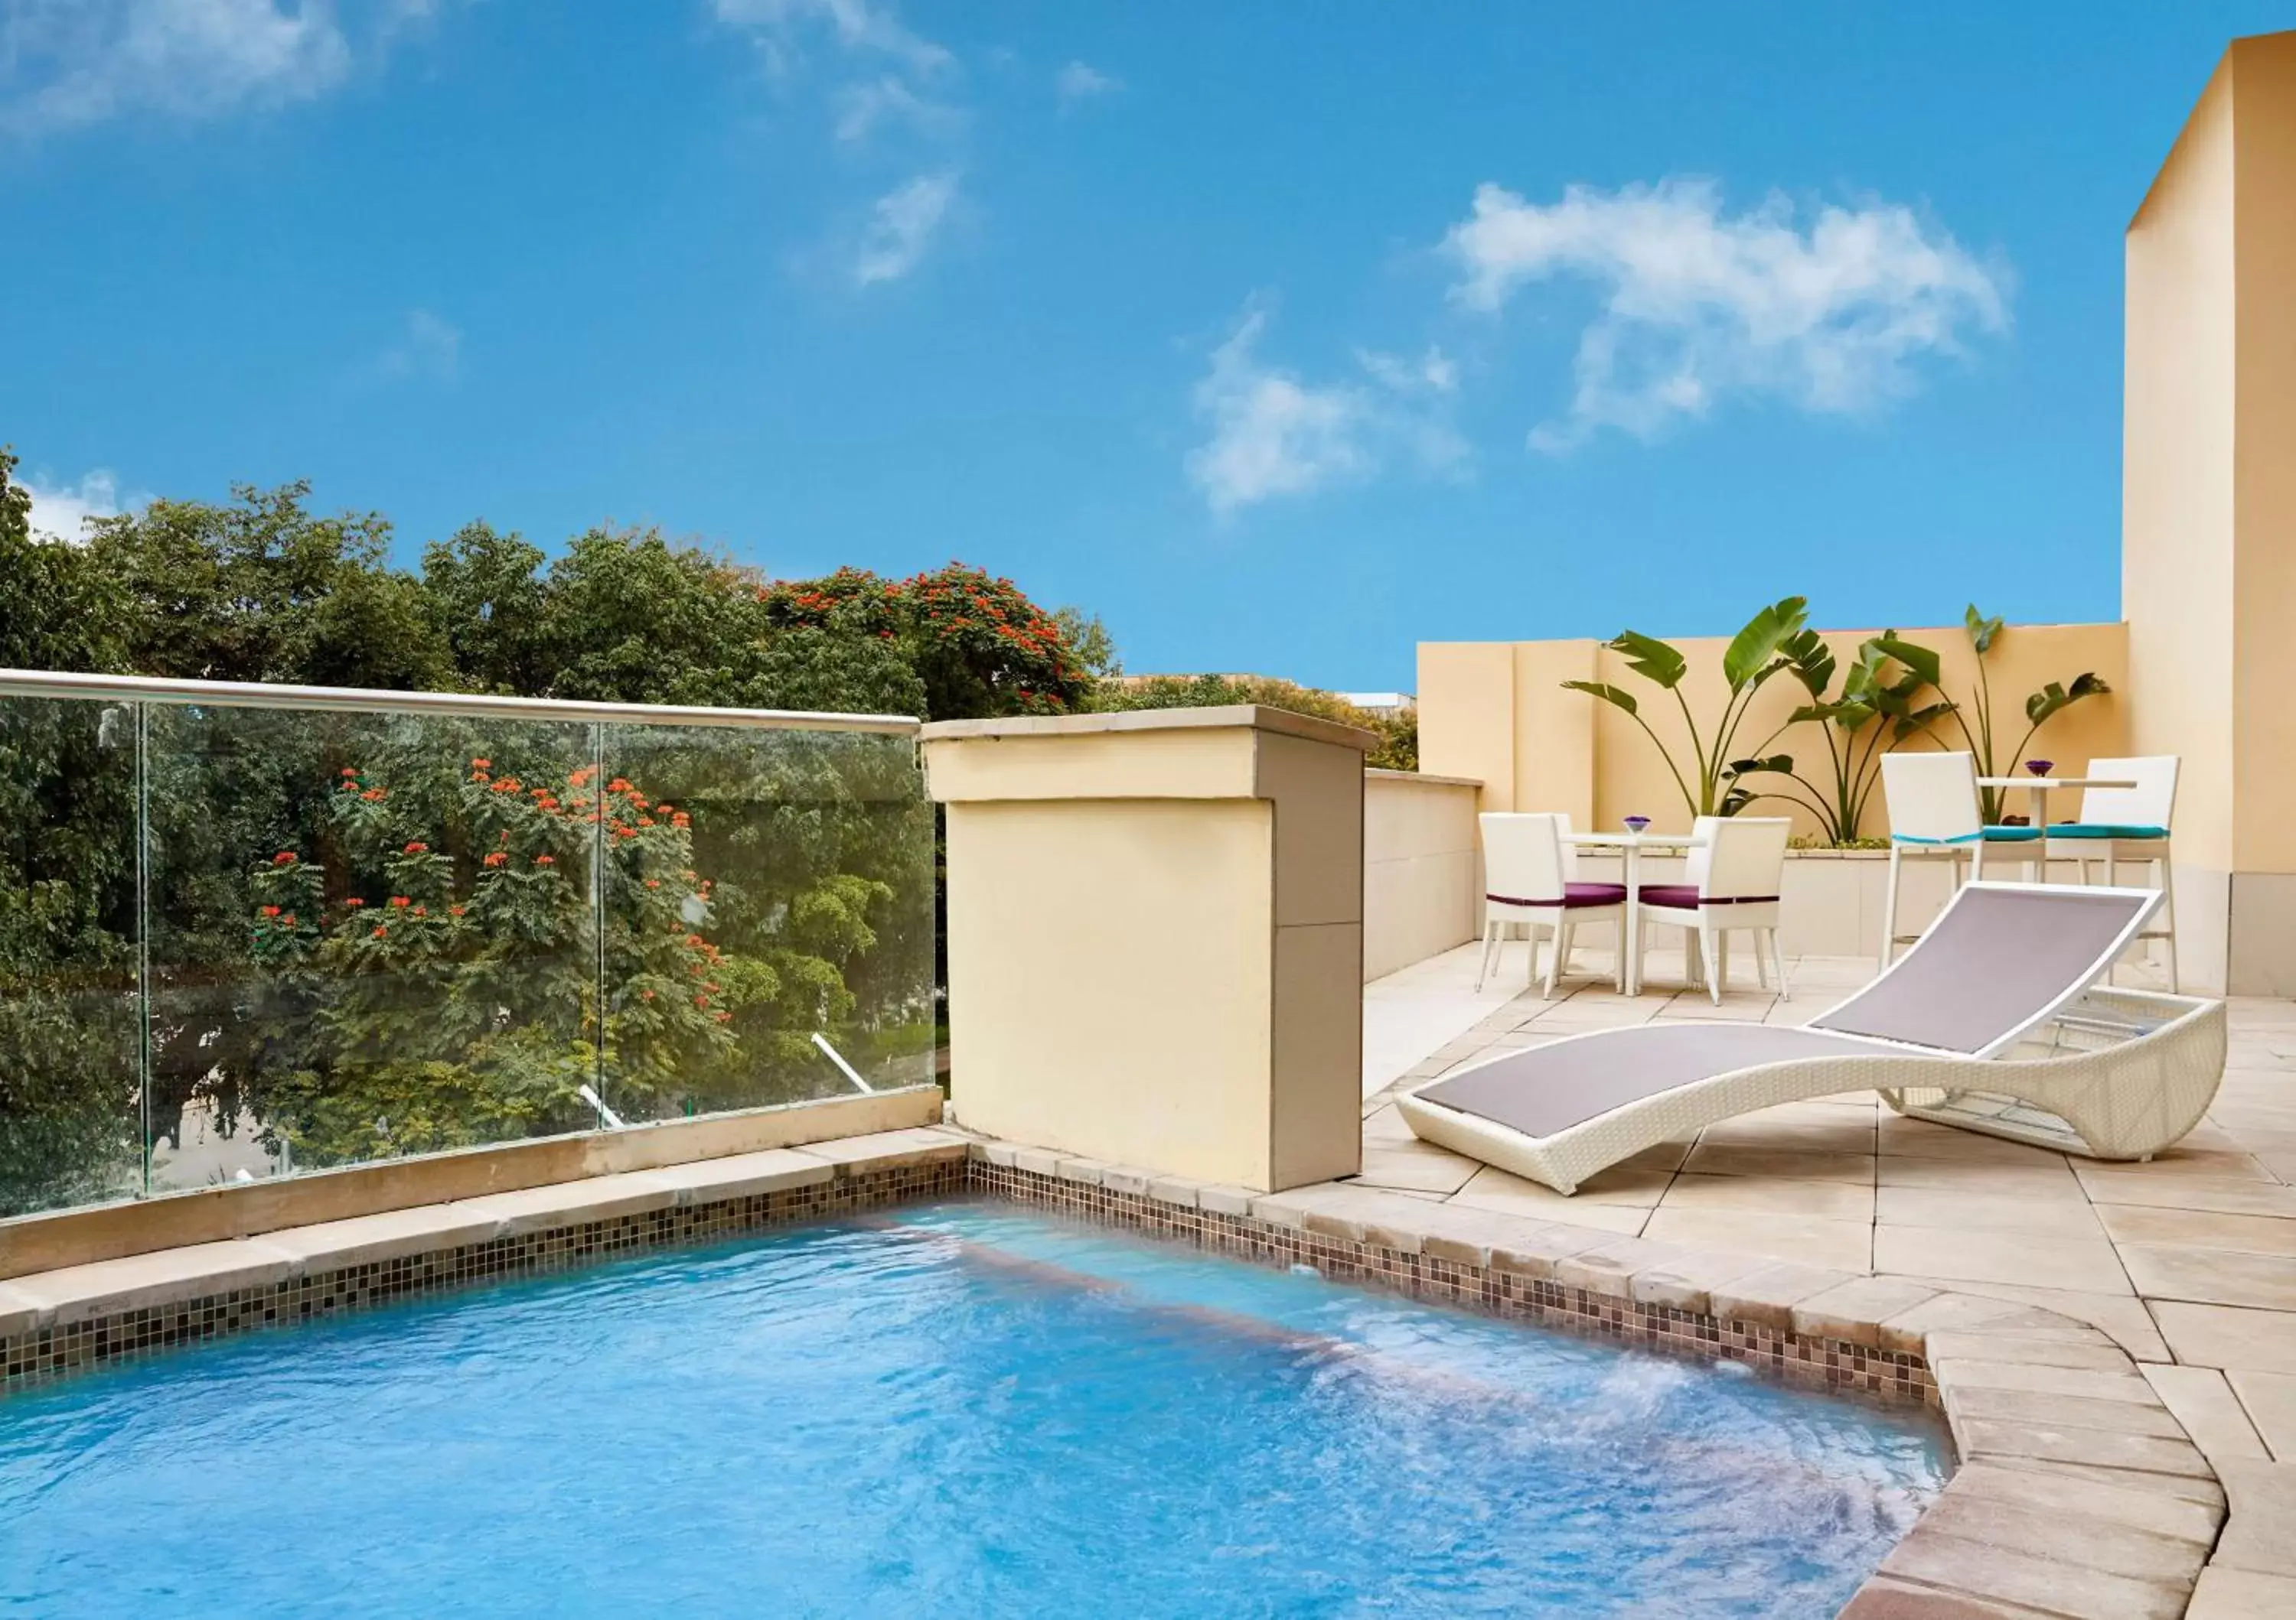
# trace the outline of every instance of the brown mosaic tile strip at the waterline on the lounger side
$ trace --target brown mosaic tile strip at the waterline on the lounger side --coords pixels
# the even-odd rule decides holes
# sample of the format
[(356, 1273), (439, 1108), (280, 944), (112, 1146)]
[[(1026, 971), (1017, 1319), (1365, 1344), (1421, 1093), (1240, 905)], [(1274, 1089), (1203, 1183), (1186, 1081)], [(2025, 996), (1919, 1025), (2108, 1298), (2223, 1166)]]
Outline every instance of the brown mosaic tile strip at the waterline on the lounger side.
[(1249, 1214), (1189, 1209), (1146, 1193), (1111, 1191), (980, 1159), (971, 1163), (969, 1182), (976, 1191), (996, 1198), (1187, 1241), (1235, 1260), (1274, 1267), (1309, 1264), (1345, 1283), (1522, 1317), (1582, 1338), (1706, 1361), (1743, 1361), (1756, 1372), (1830, 1393), (1938, 1404), (1938, 1384), (1929, 1374), (1929, 1363), (1903, 1352), (1782, 1333), (1752, 1322), (1720, 1322), (1711, 1315), (1644, 1306), (1518, 1271), (1359, 1244), (1274, 1225)]

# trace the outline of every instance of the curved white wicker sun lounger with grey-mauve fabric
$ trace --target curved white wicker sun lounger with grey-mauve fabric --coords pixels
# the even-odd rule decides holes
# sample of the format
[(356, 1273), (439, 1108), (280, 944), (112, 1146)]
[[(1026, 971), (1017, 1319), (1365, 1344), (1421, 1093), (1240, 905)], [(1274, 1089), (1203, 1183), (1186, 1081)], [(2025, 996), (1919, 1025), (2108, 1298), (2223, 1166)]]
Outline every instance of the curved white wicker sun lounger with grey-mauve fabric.
[(1887, 973), (1802, 1028), (1568, 1035), (1430, 1081), (1412, 1134), (1573, 1193), (1754, 1108), (1878, 1090), (1899, 1113), (2092, 1159), (2151, 1159), (2225, 1078), (2225, 1005), (2103, 984), (2158, 890), (1968, 883)]

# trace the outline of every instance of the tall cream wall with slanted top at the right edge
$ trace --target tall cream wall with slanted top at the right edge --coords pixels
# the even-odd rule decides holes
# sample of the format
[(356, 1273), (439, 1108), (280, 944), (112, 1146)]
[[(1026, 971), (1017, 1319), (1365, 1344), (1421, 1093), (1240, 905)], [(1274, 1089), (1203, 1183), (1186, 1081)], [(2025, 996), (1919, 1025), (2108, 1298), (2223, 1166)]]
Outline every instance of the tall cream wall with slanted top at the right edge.
[(2122, 597), (2142, 750), (2183, 755), (2200, 989), (2296, 994), (2296, 34), (2218, 62), (2126, 239)]

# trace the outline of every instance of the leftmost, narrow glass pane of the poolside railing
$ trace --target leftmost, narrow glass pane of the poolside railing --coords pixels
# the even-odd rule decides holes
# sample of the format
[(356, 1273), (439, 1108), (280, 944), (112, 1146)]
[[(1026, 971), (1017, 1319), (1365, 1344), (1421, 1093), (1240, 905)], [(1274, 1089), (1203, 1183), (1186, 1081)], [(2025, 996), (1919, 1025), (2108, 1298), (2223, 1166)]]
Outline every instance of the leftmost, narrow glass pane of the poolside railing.
[(135, 704), (0, 698), (0, 1216), (142, 1191)]

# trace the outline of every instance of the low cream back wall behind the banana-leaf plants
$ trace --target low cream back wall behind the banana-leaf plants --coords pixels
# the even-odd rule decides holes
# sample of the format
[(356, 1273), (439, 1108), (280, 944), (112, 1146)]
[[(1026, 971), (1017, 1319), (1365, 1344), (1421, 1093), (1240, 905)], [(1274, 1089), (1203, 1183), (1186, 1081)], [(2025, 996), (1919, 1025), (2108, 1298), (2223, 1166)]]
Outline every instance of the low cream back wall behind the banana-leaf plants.
[[(1750, 608), (1752, 610), (1752, 608)], [(1628, 617), (1632, 603), (1628, 603)], [(1874, 631), (1825, 631), (1835, 656), (1846, 661), (1857, 642)], [(1901, 631), (1910, 640), (1938, 649), (1945, 691), (1972, 702), (1977, 656), (1958, 624)], [(1727, 636), (1669, 638), (1690, 661), (1683, 695), (1711, 734), (1729, 695), (1722, 682)], [(1506, 652), (1499, 659), (1497, 652)], [(2002, 631), (1986, 659), (1993, 682), (1995, 753), (2002, 769), (2009, 750), (2025, 734), (2025, 693), (2046, 682), (2069, 682), (2094, 670), (2115, 691), (2089, 698), (2053, 718), (2025, 755), (2055, 760), (2060, 773), (2080, 769), (2092, 757), (2128, 753), (2128, 638), (2122, 624), (2018, 624)], [(1589, 698), (1564, 691), (1566, 679), (1600, 679), (1635, 693), (1642, 718), (1651, 723), (1690, 776), (1690, 727), (1674, 698), (1626, 668), (1626, 659), (1598, 642), (1421, 642), (1419, 645), (1419, 762), (1444, 776), (1481, 776), (1486, 810), (1564, 810), (1577, 826), (1614, 826), (1626, 815), (1649, 815), (1660, 831), (1688, 831), (1690, 808), (1667, 769), (1667, 760), (1635, 725), (1632, 716)], [(1736, 734), (1736, 755), (1791, 753), (1818, 782), (1828, 782), (1825, 739), (1814, 725), (1779, 732), (1802, 700), (1802, 688), (1789, 677), (1775, 677), (1747, 711)], [(1958, 748), (1961, 734), (1947, 723), (1938, 739)], [(1768, 743), (1768, 748), (1763, 748)], [(1913, 743), (1917, 746), (1917, 743)], [(1495, 789), (1504, 782), (1504, 789)], [(1692, 792), (1697, 787), (1692, 778)], [(1504, 801), (1504, 803), (1502, 803)], [(1798, 833), (1814, 833), (1816, 817), (1795, 803), (1766, 801), (1770, 815), (1791, 815)], [(2025, 805), (2014, 805), (2018, 815)], [(2050, 815), (2071, 815), (2066, 799), (2050, 803)], [(1867, 835), (1887, 831), (1887, 815), (1876, 792), (1862, 828)]]

